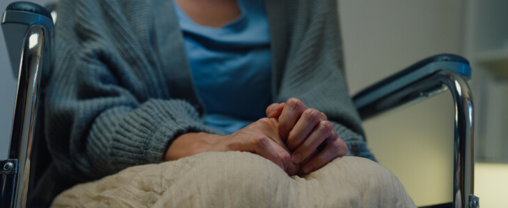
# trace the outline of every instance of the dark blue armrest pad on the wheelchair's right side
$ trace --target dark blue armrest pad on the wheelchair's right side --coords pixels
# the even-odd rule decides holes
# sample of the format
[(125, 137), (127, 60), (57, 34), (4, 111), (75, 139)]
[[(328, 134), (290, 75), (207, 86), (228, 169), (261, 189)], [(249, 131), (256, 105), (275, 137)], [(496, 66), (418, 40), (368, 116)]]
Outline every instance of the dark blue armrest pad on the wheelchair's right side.
[(353, 97), (354, 104), (357, 109), (360, 109), (415, 81), (443, 70), (454, 71), (466, 80), (469, 80), (471, 76), (471, 68), (466, 58), (453, 54), (434, 55), (363, 89)]

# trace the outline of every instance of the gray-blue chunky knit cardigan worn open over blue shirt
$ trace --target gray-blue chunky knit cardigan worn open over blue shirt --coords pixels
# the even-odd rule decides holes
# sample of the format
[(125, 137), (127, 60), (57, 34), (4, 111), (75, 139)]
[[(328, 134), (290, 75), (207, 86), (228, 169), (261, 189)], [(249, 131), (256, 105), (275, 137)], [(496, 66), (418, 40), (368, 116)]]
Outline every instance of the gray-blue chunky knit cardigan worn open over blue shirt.
[[(336, 2), (265, 5), (273, 102), (301, 99), (333, 121), (352, 155), (374, 159), (347, 91)], [(171, 1), (61, 1), (54, 29), (45, 133), (68, 180), (163, 162), (166, 144), (186, 132), (222, 134), (203, 124)]]

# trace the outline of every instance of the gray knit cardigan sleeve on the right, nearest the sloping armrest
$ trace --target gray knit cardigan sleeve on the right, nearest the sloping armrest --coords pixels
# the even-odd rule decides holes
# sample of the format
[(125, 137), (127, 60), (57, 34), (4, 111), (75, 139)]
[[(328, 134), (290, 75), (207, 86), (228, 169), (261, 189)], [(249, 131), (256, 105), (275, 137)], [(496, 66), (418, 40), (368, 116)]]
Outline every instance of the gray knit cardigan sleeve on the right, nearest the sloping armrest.
[(292, 8), (297, 15), (289, 27), (291, 51), (276, 101), (296, 97), (324, 112), (349, 146), (350, 155), (374, 159), (347, 88), (336, 1), (298, 2)]

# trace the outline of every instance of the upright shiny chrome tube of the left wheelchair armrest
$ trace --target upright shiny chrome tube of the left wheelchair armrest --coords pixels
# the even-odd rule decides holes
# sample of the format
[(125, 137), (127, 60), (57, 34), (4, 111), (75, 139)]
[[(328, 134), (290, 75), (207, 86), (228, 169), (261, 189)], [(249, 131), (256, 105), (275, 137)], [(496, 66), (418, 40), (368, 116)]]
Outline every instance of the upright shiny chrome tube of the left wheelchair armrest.
[[(30, 161), (35, 121), (39, 101), (42, 61), (48, 33), (44, 26), (30, 26), (24, 37), (17, 83), (13, 128), (10, 135), (8, 159), (17, 159), (18, 168), (13, 183), (12, 207), (25, 207), (28, 191)], [(47, 65), (47, 64), (46, 64)]]

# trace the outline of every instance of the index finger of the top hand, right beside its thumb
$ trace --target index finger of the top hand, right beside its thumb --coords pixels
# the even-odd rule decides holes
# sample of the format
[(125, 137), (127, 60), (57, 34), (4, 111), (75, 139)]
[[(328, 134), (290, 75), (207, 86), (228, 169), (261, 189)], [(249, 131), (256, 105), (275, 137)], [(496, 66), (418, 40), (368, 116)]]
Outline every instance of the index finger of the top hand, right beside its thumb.
[(287, 100), (283, 112), (278, 118), (278, 131), (280, 137), (287, 139), (289, 132), (293, 129), (296, 121), (298, 121), (305, 109), (307, 109), (307, 106), (305, 106), (299, 99), (289, 98), (289, 100)]

